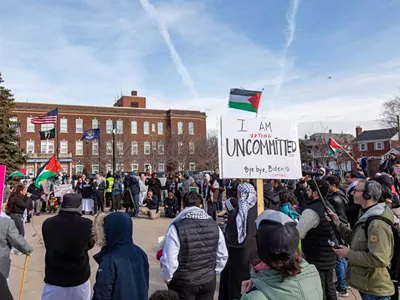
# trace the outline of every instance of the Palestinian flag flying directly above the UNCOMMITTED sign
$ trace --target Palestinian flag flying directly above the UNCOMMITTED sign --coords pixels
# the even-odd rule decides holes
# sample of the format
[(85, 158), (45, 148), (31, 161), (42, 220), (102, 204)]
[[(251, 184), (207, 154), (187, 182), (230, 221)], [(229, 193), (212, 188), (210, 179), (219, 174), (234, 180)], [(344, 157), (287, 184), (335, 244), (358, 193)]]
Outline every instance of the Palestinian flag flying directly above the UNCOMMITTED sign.
[(262, 92), (258, 91), (231, 89), (229, 107), (256, 113), (258, 112), (261, 94)]

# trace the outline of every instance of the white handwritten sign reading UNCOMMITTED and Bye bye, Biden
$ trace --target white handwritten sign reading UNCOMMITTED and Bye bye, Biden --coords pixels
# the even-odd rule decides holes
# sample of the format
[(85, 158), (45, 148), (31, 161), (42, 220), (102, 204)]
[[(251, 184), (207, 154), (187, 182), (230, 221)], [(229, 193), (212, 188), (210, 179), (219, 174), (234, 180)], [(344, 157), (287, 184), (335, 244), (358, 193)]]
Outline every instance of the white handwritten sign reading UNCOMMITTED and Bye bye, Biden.
[(221, 117), (219, 160), (222, 178), (298, 179), (297, 124)]

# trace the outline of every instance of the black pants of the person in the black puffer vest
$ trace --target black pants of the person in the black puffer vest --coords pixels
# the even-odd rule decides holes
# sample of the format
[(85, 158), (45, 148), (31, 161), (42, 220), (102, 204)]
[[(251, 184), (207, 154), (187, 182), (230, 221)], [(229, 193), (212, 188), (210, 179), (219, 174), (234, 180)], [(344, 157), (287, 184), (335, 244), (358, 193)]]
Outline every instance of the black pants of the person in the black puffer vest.
[(182, 285), (174, 284), (172, 280), (168, 289), (177, 292), (179, 300), (213, 300), (216, 285), (215, 277), (209, 283), (196, 287), (183, 287)]

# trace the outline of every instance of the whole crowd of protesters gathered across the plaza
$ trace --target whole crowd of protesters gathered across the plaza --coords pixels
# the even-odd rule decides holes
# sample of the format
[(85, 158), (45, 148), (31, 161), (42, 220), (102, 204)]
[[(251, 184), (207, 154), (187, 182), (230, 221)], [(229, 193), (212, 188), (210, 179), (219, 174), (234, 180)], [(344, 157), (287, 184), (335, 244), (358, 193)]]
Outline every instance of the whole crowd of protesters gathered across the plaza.
[[(157, 253), (168, 290), (149, 299), (212, 300), (218, 290), (220, 300), (331, 300), (347, 297), (349, 286), (363, 300), (398, 299), (400, 201), (388, 171), (373, 178), (349, 172), (342, 180), (321, 168), (300, 180), (264, 180), (259, 215), (254, 182), (222, 180), (218, 169), (200, 181), (163, 175), (164, 184), (156, 173), (97, 174), (93, 182), (82, 176), (42, 227), (42, 299), (148, 299), (149, 262), (133, 243), (132, 217), (140, 212), (157, 219), (160, 204), (172, 218)], [(36, 189), (14, 188), (9, 218), (0, 218), (4, 278), (11, 247), (26, 255), (33, 250), (23, 238), (23, 215), (34, 207), (40, 213), (45, 192)], [(94, 222), (85, 213), (95, 214)], [(91, 295), (88, 251), (95, 244), (101, 250)]]

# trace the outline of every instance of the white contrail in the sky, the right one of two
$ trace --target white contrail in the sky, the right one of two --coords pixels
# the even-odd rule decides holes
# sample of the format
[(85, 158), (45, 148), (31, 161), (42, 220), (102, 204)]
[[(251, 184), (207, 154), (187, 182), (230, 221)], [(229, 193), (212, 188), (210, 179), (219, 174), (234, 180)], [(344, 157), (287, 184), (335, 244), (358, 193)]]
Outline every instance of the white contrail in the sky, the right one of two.
[(286, 57), (290, 46), (294, 41), (294, 34), (296, 32), (296, 15), (299, 8), (300, 0), (291, 0), (290, 7), (286, 13), (286, 19), (288, 22), (287, 28), (285, 30), (286, 43), (282, 50), (281, 59), (279, 61), (280, 65), (280, 75), (278, 78), (278, 83), (275, 87), (275, 96), (277, 96), (282, 88), (283, 81), (285, 79), (285, 67), (286, 67)]

